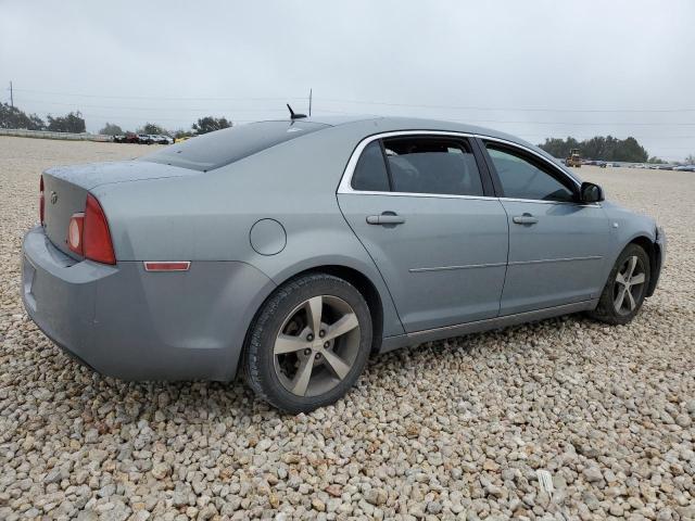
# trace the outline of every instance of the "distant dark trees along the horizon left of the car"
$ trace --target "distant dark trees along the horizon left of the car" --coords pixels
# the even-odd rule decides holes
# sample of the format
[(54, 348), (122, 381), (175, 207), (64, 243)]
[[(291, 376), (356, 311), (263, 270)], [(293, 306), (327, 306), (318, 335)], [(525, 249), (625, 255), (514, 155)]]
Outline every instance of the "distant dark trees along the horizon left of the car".
[[(153, 134), (157, 136), (172, 136), (181, 138), (187, 136), (195, 136), (201, 134), (213, 132), (223, 128), (231, 127), (232, 123), (226, 117), (205, 116), (193, 123), (190, 129), (178, 129), (169, 131), (155, 123), (146, 123), (141, 127), (135, 129), (134, 134)], [(79, 111), (74, 111), (64, 116), (46, 116), (43, 120), (37, 114), (27, 114), (16, 106), (9, 103), (0, 103), (0, 128), (22, 128), (26, 130), (50, 130), (53, 132), (75, 132), (81, 134), (87, 131), (85, 118)], [(114, 123), (106, 123), (99, 130), (99, 134), (106, 136), (123, 136), (130, 132), (124, 130)]]

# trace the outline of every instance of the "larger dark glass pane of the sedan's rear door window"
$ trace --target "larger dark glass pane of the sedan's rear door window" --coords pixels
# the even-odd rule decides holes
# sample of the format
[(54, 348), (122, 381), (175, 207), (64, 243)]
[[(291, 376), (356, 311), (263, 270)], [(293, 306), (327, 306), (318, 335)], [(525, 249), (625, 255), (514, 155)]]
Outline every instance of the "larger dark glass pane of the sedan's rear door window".
[(394, 192), (482, 195), (478, 164), (464, 140), (438, 137), (383, 141)]

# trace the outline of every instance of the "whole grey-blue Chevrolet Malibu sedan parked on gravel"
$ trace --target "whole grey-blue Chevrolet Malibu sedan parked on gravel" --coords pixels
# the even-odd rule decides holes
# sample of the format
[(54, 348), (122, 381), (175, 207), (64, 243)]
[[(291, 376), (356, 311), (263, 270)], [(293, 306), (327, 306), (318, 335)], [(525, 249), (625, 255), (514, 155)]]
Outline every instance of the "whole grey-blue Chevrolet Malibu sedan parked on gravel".
[(22, 294), (100, 373), (241, 373), (298, 412), (371, 353), (578, 312), (627, 323), (665, 255), (652, 218), (511, 136), (296, 115), (46, 170)]

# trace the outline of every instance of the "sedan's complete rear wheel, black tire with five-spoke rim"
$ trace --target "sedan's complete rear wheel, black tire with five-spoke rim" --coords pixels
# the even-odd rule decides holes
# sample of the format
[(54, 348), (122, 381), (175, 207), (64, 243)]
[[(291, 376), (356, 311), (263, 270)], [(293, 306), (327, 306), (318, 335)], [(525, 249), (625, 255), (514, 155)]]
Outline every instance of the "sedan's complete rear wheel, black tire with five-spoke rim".
[(308, 412), (355, 384), (371, 336), (369, 307), (351, 283), (327, 274), (298, 277), (256, 315), (244, 347), (245, 380), (278, 409)]

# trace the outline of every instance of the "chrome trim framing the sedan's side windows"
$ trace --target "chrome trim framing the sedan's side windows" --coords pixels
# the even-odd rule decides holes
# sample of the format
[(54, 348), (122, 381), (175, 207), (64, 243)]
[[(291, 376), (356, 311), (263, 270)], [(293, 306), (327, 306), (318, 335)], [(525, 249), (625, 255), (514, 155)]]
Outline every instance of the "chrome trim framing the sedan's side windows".
[(410, 196), (410, 198), (439, 198), (439, 199), (477, 199), (477, 200), (498, 200), (498, 201), (517, 201), (517, 202), (534, 202), (534, 203), (544, 203), (544, 204), (574, 204), (580, 206), (601, 206), (599, 204), (581, 204), (570, 201), (544, 201), (540, 199), (515, 199), (515, 198), (494, 198), (489, 195), (457, 195), (457, 194), (447, 194), (447, 193), (415, 193), (415, 192), (379, 192), (379, 191), (365, 191), (365, 190), (355, 190), (352, 188), (352, 177), (355, 173), (355, 168), (357, 167), (357, 162), (359, 161), (359, 156), (362, 152), (367, 148), (369, 143), (376, 141), (378, 139), (386, 138), (396, 138), (401, 136), (443, 136), (443, 137), (454, 137), (454, 138), (480, 138), (488, 141), (496, 141), (503, 144), (508, 144), (510, 147), (516, 147), (521, 149), (525, 152), (533, 154), (539, 157), (543, 164), (546, 164), (557, 170), (565, 178), (569, 179), (577, 188), (581, 188), (581, 182), (578, 179), (574, 179), (573, 176), (569, 175), (559, 165), (548, 161), (545, 156), (539, 154), (536, 151), (529, 149), (522, 144), (516, 143), (514, 141), (509, 141), (508, 139), (503, 138), (494, 138), (492, 136), (484, 136), (481, 134), (470, 134), (470, 132), (455, 132), (451, 130), (392, 130), (388, 132), (375, 134), (372, 136), (368, 136), (364, 138), (355, 150), (352, 152), (350, 160), (348, 161), (348, 165), (345, 166), (345, 170), (343, 171), (343, 176), (340, 179), (340, 183), (338, 185), (337, 193), (342, 194), (361, 194), (361, 195), (392, 195), (392, 196)]

